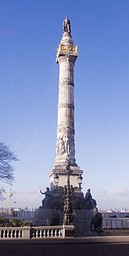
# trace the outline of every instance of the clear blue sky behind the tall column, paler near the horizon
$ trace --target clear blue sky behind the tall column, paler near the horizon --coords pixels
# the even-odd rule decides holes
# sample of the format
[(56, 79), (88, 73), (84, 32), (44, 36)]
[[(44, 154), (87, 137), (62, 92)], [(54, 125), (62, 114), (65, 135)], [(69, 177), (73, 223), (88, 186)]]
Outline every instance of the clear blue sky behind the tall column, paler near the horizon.
[[(66, 16), (79, 48), (75, 148), (83, 193), (91, 188), (99, 208), (129, 209), (128, 0), (0, 1), (0, 140), (21, 159), (14, 164), (13, 206), (38, 207), (39, 189), (50, 185), (58, 105), (55, 56)], [(8, 205), (7, 197), (1, 205)]]

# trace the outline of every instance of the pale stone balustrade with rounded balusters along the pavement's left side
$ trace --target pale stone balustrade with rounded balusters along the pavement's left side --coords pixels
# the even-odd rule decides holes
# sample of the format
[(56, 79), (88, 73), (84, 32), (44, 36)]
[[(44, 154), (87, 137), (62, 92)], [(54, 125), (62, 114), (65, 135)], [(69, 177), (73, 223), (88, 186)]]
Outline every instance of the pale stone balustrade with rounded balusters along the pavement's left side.
[(0, 227), (0, 240), (30, 238), (65, 238), (65, 236), (65, 226)]

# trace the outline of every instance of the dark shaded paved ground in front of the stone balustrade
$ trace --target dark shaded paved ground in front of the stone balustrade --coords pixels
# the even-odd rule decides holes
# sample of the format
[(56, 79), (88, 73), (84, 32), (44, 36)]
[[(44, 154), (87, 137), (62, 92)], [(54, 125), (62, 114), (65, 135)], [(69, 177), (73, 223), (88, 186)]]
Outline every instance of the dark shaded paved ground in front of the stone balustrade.
[(0, 241), (0, 256), (129, 256), (129, 237)]

